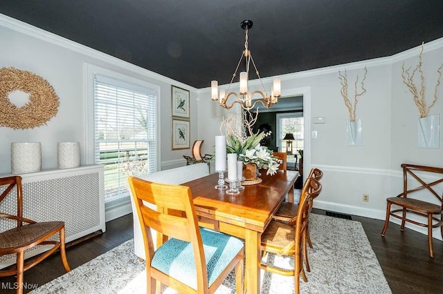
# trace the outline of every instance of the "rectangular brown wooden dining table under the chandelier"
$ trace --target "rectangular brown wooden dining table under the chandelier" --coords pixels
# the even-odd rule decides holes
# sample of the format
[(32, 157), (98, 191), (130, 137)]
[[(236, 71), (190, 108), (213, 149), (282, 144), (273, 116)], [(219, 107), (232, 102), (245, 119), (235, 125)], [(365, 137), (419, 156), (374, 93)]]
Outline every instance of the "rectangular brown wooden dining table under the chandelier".
[(286, 195), (293, 202), (298, 175), (278, 170), (271, 176), (264, 170), (260, 184), (245, 185), (238, 195), (215, 188), (218, 174), (182, 184), (191, 189), (200, 226), (244, 239), (247, 293), (260, 293), (261, 236)]

